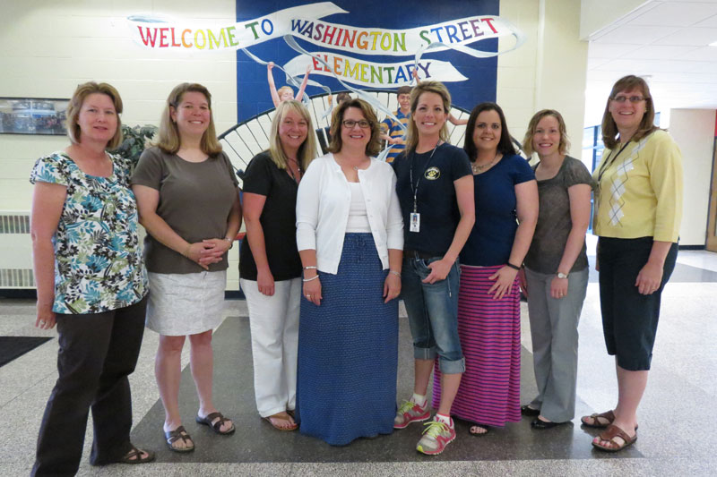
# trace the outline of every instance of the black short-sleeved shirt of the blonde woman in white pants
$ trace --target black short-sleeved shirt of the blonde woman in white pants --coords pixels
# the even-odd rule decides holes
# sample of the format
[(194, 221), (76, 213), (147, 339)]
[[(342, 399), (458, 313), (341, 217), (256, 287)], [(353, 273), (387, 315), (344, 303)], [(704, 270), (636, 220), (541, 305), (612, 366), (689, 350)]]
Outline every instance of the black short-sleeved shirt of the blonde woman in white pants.
[[(277, 167), (269, 152), (264, 151), (246, 166), (242, 189), (266, 196), (259, 222), (263, 228), (266, 260), (274, 280), (301, 277), (296, 226), (298, 183), (286, 170)], [(239, 252), (239, 277), (256, 280), (254, 255), (246, 239)]]

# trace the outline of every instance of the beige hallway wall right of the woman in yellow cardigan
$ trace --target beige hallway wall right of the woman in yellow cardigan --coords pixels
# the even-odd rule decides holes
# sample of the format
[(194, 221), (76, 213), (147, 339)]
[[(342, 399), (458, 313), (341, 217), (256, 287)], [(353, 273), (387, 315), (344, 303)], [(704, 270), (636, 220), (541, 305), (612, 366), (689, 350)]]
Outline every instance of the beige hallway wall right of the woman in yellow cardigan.
[(714, 147), (714, 109), (672, 109), (669, 134), (682, 151), (685, 175), (680, 245), (704, 245)]

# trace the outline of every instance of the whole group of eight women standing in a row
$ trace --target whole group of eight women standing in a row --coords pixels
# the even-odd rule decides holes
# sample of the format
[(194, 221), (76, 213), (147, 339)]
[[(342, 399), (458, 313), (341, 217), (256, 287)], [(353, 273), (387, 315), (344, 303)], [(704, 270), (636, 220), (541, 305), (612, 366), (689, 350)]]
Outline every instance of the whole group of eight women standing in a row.
[[(450, 103), (443, 84), (419, 83), (407, 147), (392, 165), (375, 158), (380, 128), (366, 102), (337, 107), (330, 153), (318, 159), (306, 107), (293, 99), (277, 107), (270, 148), (247, 167), (243, 191), (240, 277), (259, 414), (278, 430), (300, 427), (333, 445), (373, 438), (431, 418), (435, 368), (437, 413), (417, 445), (424, 454), (455, 439), (452, 416), (473, 422), (472, 435), (521, 413), (536, 416), (535, 429), (572, 420), (584, 235), (597, 183), (600, 303), (619, 399), (614, 410), (582, 422), (606, 428), (593, 446), (629, 446), (681, 213), (679, 151), (652, 126), (647, 85), (630, 76), (613, 88), (602, 125), (608, 149), (594, 180), (566, 156), (557, 111), (531, 120), (523, 148), (540, 158), (531, 168), (495, 103), (473, 109), (463, 149), (447, 144)], [(92, 464), (154, 458), (129, 441), (127, 376), (145, 318), (160, 333), (155, 374), (169, 449), (194, 449), (178, 410), (186, 336), (200, 398), (196, 422), (220, 435), (235, 430), (212, 401), (212, 329), (242, 209), (216, 139), (211, 95), (189, 83), (172, 91), (158, 139), (134, 174), (134, 165), (106, 152), (120, 140), (121, 112), (110, 85), (78, 87), (68, 109), (72, 144), (40, 158), (31, 175), (36, 325), (57, 324), (60, 336), (36, 475), (76, 473), (90, 409)], [(149, 273), (138, 221), (148, 231)], [(538, 383), (538, 396), (523, 407), (520, 285)], [(399, 296), (415, 361), (413, 395), (397, 406)]]

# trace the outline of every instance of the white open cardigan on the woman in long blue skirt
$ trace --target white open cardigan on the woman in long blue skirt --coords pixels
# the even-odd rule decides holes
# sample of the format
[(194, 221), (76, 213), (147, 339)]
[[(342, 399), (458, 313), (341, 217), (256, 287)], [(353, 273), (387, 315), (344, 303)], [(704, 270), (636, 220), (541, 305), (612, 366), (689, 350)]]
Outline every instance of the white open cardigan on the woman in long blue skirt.
[[(396, 195), (396, 175), (389, 164), (371, 158), (367, 169), (358, 169), (368, 224), (384, 269), (388, 249), (403, 250), (403, 217)], [(343, 237), (349, 221), (351, 191), (341, 166), (326, 154), (312, 161), (298, 185), (298, 250), (315, 250), (316, 267), (333, 275), (339, 269)]]

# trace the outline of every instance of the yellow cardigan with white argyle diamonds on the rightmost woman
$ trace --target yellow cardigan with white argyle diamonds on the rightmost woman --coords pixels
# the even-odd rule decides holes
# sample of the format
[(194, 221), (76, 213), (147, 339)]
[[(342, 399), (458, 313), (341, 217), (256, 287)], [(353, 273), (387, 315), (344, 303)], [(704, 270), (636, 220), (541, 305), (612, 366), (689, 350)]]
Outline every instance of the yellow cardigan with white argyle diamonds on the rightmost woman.
[(619, 150), (619, 145), (605, 149), (593, 173), (598, 183), (594, 234), (677, 242), (682, 220), (682, 154), (677, 143), (667, 132), (655, 131), (630, 141), (614, 158)]

